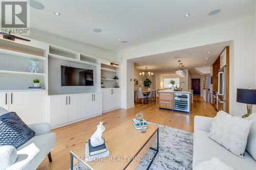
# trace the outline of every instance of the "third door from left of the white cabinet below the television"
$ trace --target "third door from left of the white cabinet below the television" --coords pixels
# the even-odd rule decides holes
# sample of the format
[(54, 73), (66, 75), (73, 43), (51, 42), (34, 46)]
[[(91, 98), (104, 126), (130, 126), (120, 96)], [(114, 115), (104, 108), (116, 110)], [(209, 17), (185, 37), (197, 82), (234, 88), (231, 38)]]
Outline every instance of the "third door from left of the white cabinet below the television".
[(82, 94), (82, 117), (93, 115), (93, 94)]

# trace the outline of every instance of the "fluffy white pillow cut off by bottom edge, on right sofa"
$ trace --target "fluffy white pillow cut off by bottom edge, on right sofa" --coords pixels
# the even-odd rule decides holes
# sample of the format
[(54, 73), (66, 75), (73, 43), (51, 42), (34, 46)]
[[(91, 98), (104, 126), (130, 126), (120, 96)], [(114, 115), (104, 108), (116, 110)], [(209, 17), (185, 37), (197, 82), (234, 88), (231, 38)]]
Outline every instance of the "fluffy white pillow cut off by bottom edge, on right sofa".
[(231, 166), (222, 162), (219, 158), (214, 157), (210, 160), (203, 161), (199, 163), (195, 170), (216, 170), (216, 169), (225, 169), (225, 170), (234, 170)]

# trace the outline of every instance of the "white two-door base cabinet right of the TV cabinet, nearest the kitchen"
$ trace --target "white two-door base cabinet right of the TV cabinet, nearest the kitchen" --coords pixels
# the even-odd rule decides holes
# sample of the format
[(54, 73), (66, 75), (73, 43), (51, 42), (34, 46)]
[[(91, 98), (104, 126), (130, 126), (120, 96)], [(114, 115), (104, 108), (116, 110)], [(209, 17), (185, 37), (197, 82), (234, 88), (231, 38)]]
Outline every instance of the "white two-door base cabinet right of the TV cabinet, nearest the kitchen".
[(103, 112), (108, 112), (121, 107), (120, 88), (102, 88)]

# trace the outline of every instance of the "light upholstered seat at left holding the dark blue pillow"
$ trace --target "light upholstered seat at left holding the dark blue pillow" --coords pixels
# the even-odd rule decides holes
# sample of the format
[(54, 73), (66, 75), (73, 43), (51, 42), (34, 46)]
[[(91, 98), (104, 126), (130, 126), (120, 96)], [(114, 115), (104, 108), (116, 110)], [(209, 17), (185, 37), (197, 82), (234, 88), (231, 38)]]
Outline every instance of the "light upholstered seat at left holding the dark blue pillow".
[[(0, 107), (0, 115), (7, 113)], [(55, 144), (56, 134), (50, 132), (48, 123), (28, 125), (35, 136), (26, 143), (15, 149), (10, 146), (0, 147), (0, 169), (36, 169), (39, 164), (48, 156), (52, 161), (51, 150)]]

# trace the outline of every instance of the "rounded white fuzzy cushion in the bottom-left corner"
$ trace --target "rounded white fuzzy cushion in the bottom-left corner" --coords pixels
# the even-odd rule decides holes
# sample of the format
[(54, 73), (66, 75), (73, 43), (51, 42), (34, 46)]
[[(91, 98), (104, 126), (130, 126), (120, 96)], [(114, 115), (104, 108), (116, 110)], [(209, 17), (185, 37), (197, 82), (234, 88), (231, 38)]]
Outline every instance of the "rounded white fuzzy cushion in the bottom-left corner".
[(17, 159), (17, 151), (13, 146), (5, 145), (0, 147), (0, 167), (7, 169)]

